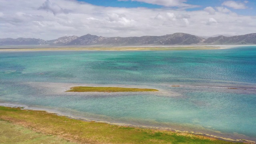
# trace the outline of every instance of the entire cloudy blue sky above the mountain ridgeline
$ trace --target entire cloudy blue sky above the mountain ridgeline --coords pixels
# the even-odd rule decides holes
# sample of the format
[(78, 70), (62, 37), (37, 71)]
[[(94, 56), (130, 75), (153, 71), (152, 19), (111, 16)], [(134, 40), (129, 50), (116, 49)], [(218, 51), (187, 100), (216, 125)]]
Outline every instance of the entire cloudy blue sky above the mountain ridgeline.
[(0, 38), (256, 33), (256, 0), (0, 0)]

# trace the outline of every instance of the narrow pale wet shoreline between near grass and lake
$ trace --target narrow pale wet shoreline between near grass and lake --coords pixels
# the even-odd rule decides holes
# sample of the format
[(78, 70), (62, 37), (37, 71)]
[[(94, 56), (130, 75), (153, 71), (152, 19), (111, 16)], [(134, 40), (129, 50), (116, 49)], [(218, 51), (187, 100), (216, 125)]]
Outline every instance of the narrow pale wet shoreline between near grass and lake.
[[(185, 135), (195, 134), (195, 135), (199, 135), (199, 136), (217, 138), (219, 140), (226, 140), (226, 141), (230, 141), (230, 142), (247, 142), (247, 143), (250, 143), (250, 144), (256, 144), (256, 141), (254, 141), (254, 140), (247, 140), (247, 139), (244, 139), (244, 138), (238, 138), (238, 137), (234, 136), (234, 134), (229, 134), (229, 133), (227, 133), (227, 135), (230, 135), (231, 138), (228, 138), (226, 136), (225, 137), (224, 136), (223, 137), (222, 136), (216, 136), (216, 135), (210, 134), (210, 133), (194, 132), (194, 131), (189, 131), (189, 130), (177, 130), (177, 129), (174, 129), (174, 128), (168, 128), (168, 127), (162, 127), (162, 126), (134, 125), (134, 124), (126, 124), (126, 123), (118, 123), (118, 122), (108, 122), (108, 121), (102, 121), (102, 120), (93, 120), (93, 119), (88, 119), (88, 118), (82, 118), (82, 117), (79, 117), (79, 116), (72, 116), (72, 115), (64, 114), (62, 112), (57, 112), (57, 111), (54, 111), (54, 110), (48, 110), (48, 109), (36, 108), (36, 107), (29, 107), (29, 106), (22, 105), (22, 104), (0, 103), (0, 106), (9, 107), (9, 108), (21, 108), (22, 110), (44, 111), (44, 112), (47, 112), (49, 114), (56, 114), (57, 116), (65, 116), (65, 117), (70, 118), (70, 119), (82, 120), (82, 121), (86, 121), (86, 122), (98, 122), (98, 123), (105, 123), (105, 124), (116, 125), (116, 126), (128, 126), (128, 127), (133, 127), (133, 128), (148, 128), (148, 129), (154, 129), (154, 130), (167, 130), (167, 131), (171, 131), (171, 132), (182, 133), (182, 134), (185, 134)], [(219, 134), (224, 134), (224, 133), (221, 133), (221, 132), (218, 132), (218, 133)], [(238, 134), (238, 135), (243, 136), (243, 137), (247, 137), (247, 138), (250, 139), (250, 137), (248, 137), (248, 136), (244, 136), (242, 134)]]

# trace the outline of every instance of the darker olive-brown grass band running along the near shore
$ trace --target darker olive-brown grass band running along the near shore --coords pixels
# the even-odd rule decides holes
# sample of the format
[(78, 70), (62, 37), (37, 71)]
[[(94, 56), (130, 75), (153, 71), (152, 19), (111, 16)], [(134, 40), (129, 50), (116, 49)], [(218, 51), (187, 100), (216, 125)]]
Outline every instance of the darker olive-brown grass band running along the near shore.
[[(58, 136), (59, 138), (79, 144), (237, 144), (206, 136), (166, 130), (117, 126), (93, 121), (87, 122), (70, 119), (65, 116), (57, 116), (56, 114), (50, 114), (45, 111), (22, 110), (20, 108), (3, 106), (0, 106), (0, 120), (15, 124), (14, 127), (18, 124), (35, 132)], [(18, 139), (20, 133), (26, 133), (14, 130), (15, 132), (8, 134), (8, 130), (12, 128), (12, 124), (3, 124), (7, 132), (2, 130), (3, 132), (0, 133), (0, 138), (5, 136), (6, 138), (4, 140), (10, 143), (12, 143), (12, 140)], [(27, 139), (29, 139), (33, 134), (30, 135), (28, 133), (27, 136)], [(50, 138), (49, 141), (51, 141)], [(38, 142), (35, 142), (35, 144), (38, 144)], [(60, 142), (60, 144), (62, 143)]]

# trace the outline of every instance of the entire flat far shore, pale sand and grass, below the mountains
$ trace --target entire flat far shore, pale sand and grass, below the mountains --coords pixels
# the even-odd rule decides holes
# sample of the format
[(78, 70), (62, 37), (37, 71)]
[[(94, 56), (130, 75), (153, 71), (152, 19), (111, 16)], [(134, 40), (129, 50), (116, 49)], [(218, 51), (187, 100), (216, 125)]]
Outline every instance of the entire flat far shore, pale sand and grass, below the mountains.
[(0, 46), (0, 52), (28, 51), (148, 51), (218, 50), (255, 45), (172, 45), (172, 46)]

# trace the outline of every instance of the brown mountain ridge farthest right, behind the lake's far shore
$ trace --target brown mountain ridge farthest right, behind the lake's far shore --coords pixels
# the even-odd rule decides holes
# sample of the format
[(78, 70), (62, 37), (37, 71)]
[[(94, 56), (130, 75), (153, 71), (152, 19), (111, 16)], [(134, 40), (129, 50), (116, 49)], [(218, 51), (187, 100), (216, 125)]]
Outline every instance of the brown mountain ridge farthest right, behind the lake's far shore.
[(217, 36), (204, 41), (207, 44), (256, 44), (256, 33), (240, 36)]

